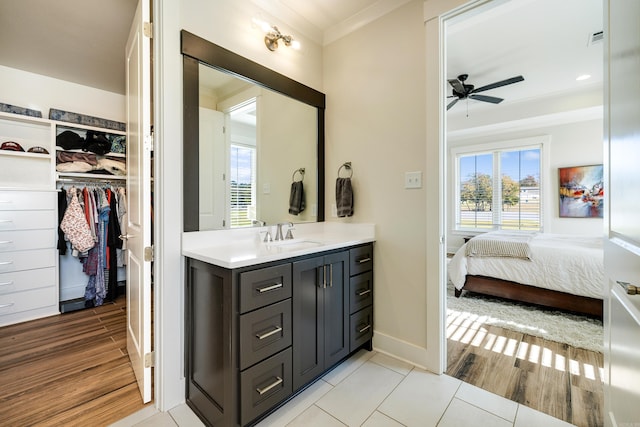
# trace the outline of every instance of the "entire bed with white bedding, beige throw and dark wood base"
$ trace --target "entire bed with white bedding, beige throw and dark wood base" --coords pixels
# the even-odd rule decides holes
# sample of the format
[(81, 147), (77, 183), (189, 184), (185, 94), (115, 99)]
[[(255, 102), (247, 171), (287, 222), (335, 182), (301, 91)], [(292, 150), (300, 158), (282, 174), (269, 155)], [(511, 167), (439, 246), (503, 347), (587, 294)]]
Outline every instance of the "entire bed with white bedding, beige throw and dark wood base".
[(492, 231), (466, 242), (448, 268), (462, 291), (602, 318), (601, 237)]

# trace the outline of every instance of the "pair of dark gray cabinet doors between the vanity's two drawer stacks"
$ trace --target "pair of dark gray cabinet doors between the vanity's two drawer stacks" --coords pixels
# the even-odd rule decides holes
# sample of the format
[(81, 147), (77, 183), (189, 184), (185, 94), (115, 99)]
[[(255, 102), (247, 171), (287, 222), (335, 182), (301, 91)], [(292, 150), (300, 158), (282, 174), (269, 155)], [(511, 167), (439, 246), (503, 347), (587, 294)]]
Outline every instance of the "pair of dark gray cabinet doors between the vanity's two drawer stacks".
[(349, 251), (293, 263), (293, 389), (349, 354)]

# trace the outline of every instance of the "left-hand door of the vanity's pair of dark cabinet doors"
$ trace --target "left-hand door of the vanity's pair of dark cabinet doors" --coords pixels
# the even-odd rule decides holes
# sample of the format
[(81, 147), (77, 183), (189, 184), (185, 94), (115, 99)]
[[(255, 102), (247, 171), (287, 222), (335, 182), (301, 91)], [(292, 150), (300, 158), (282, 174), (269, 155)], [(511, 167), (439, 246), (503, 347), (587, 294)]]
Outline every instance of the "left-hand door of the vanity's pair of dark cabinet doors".
[(324, 370), (324, 257), (293, 263), (293, 390)]

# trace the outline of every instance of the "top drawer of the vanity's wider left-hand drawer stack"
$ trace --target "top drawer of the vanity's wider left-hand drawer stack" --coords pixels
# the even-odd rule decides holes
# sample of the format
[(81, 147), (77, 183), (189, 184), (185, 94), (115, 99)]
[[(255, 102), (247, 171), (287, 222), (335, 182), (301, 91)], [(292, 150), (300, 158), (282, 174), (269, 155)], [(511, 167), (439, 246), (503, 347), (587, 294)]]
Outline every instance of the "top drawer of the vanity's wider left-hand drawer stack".
[(240, 313), (291, 298), (291, 264), (240, 273)]

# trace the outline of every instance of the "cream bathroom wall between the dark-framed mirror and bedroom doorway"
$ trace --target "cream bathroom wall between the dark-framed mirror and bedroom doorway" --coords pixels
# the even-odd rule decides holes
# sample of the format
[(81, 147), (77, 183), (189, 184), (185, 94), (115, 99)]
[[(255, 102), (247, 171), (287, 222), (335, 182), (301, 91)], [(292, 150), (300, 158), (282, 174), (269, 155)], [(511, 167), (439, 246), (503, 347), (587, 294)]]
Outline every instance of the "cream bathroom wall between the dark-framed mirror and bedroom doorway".
[(426, 192), (425, 45), (421, 0), (325, 47), (328, 208), (340, 165), (353, 168), (354, 216), (376, 224), (374, 346), (424, 366)]

